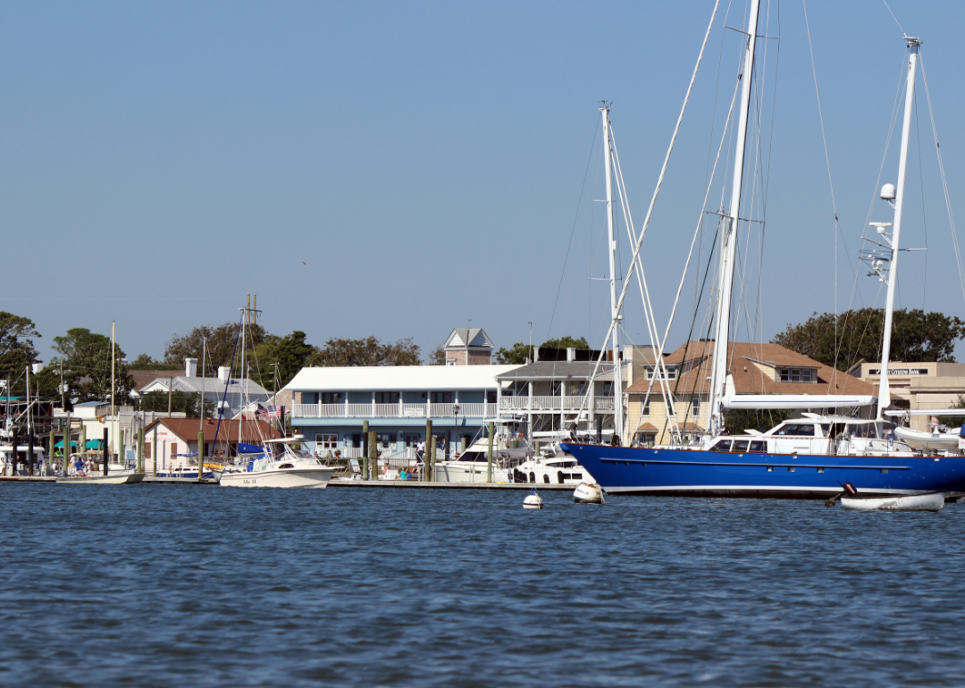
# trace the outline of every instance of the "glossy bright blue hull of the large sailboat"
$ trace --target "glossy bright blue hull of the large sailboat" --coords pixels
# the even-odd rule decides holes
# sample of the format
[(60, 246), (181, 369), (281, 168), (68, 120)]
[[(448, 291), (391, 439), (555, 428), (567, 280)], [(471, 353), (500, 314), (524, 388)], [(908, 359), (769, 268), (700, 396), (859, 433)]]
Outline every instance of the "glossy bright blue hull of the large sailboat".
[(965, 456), (736, 454), (565, 444), (609, 493), (827, 499), (965, 491)]

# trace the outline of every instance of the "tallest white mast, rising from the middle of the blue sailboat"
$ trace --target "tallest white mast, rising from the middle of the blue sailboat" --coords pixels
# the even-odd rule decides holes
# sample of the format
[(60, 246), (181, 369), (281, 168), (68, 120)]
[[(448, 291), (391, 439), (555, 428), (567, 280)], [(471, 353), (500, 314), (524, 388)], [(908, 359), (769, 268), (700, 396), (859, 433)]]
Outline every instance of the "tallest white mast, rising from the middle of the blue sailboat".
[(737, 221), (740, 216), (740, 192), (744, 181), (744, 149), (747, 144), (747, 120), (751, 110), (751, 82), (754, 75), (754, 49), (758, 42), (758, 11), (760, 0), (751, 0), (751, 13), (747, 21), (747, 47), (744, 49), (744, 67), (739, 78), (740, 116), (737, 119), (737, 143), (733, 160), (733, 185), (731, 186), (731, 210), (725, 220), (721, 243), (721, 262), (717, 279), (717, 327), (714, 336), (713, 365), (710, 372), (710, 431), (721, 432), (724, 428), (724, 388), (727, 381), (728, 340), (731, 332), (731, 292), (733, 269), (737, 251)]

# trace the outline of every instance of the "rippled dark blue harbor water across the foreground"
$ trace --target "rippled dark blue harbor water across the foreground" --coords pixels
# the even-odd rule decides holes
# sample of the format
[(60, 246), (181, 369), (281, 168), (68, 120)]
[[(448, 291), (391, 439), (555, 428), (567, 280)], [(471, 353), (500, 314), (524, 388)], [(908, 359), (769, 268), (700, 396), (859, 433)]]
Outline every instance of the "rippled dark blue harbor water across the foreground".
[(5, 686), (957, 686), (965, 505), (0, 484)]

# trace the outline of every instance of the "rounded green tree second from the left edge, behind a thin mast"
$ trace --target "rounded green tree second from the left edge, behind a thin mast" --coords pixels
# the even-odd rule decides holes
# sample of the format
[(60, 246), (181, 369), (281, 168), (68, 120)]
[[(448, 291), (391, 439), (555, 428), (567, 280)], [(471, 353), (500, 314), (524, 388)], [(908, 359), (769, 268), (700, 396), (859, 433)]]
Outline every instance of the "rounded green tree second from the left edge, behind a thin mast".
[[(64, 368), (64, 381), (69, 385), (70, 396), (84, 401), (108, 401), (111, 398), (111, 340), (91, 332), (86, 327), (74, 327), (64, 337), (54, 337), (53, 349), (60, 354), (54, 358), (47, 371)], [(124, 351), (114, 344), (116, 360), (115, 403), (128, 402), (133, 380), (127, 375), (127, 367), (121, 363)]]

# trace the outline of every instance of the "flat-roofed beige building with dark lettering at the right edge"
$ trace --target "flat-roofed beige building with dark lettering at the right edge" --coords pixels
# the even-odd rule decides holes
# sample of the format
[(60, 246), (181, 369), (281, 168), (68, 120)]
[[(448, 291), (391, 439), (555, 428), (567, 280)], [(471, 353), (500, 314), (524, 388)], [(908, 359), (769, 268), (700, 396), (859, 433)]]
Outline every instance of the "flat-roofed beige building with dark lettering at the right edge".
[[(873, 385), (873, 394), (878, 393), (880, 363), (862, 363), (848, 372)], [(891, 363), (888, 386), (897, 408), (952, 408), (959, 396), (965, 395), (965, 363)], [(910, 426), (926, 430), (931, 420), (929, 416), (912, 416)]]

